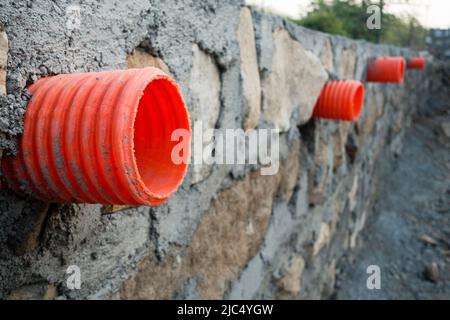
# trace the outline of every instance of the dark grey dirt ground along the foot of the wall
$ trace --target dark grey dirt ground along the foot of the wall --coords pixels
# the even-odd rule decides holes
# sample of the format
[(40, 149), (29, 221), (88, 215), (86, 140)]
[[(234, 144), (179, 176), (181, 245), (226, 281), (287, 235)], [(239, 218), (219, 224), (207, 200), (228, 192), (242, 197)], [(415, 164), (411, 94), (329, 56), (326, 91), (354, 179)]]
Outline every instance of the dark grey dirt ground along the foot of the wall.
[[(450, 107), (414, 120), (375, 212), (340, 266), (335, 299), (450, 299)], [(436, 110), (436, 109), (435, 109)], [(367, 289), (378, 265), (381, 289)]]

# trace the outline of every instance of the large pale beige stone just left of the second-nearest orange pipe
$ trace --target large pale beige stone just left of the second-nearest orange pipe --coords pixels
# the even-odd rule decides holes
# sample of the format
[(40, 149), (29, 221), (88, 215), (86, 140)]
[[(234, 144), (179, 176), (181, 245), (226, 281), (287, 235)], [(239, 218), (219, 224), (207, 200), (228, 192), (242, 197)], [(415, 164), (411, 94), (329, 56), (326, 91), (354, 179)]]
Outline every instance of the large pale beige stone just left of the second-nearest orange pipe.
[(272, 34), (272, 71), (262, 79), (265, 120), (281, 131), (290, 128), (298, 111), (298, 124), (311, 118), (328, 75), (319, 58), (282, 28)]

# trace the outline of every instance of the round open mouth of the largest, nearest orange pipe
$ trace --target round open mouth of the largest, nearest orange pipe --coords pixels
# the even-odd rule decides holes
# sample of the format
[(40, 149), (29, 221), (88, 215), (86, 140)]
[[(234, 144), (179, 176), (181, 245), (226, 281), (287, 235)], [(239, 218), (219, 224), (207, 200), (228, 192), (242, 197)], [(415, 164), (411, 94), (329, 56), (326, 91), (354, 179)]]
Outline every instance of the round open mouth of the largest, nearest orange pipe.
[[(139, 101), (133, 143), (138, 176), (151, 194), (161, 198), (175, 192), (187, 170), (186, 161), (175, 164), (171, 158), (173, 148), (179, 143), (171, 141), (176, 129), (190, 133), (183, 99), (169, 79), (155, 79), (144, 89)], [(189, 153), (189, 148), (183, 152)]]

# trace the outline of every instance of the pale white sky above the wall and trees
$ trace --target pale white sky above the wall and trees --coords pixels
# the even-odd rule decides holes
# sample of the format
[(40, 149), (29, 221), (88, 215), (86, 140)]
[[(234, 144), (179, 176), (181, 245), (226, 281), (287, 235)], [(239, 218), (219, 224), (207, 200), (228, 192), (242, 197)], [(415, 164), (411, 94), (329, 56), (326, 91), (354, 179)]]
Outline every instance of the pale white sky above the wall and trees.
[[(311, 0), (246, 0), (247, 4), (258, 5), (272, 12), (290, 17), (304, 16)], [(391, 2), (391, 4), (389, 4)], [(450, 28), (449, 0), (386, 0), (386, 11), (396, 15), (412, 14), (427, 28)]]

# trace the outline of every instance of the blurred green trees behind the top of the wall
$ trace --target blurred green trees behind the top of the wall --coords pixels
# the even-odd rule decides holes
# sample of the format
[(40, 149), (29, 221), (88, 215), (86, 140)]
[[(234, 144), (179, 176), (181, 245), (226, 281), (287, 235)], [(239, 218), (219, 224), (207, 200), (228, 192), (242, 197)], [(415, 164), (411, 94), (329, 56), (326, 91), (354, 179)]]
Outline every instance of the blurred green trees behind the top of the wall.
[(322, 32), (382, 42), (418, 49), (425, 47), (428, 30), (413, 16), (397, 17), (382, 14), (381, 30), (369, 30), (366, 22), (367, 8), (376, 4), (383, 7), (386, 1), (370, 0), (314, 0), (312, 10), (302, 19), (294, 20), (306, 28)]

